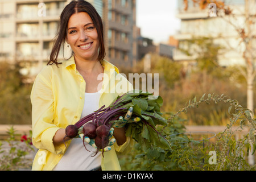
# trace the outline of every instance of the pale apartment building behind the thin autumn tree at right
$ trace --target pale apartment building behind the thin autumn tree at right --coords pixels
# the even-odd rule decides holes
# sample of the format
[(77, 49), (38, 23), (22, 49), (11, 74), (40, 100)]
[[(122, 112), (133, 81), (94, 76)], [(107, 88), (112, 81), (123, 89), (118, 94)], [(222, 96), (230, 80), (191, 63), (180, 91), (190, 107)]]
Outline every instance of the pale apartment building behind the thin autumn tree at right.
[[(191, 40), (193, 37), (209, 37), (213, 38), (214, 44), (218, 44), (225, 48), (225, 51), (220, 52), (218, 56), (219, 64), (222, 66), (228, 66), (233, 64), (244, 64), (243, 50), (244, 45), (239, 39), (239, 35), (235, 28), (229, 24), (224, 18), (220, 16), (210, 16), (210, 10), (213, 7), (206, 7), (201, 10), (198, 5), (194, 5), (193, 1), (188, 1), (188, 9), (184, 10), (183, 0), (177, 0), (177, 18), (181, 19), (181, 27), (178, 34), (175, 35), (175, 39), (179, 41), (179, 48), (189, 49), (186, 40)], [(245, 27), (245, 1), (233, 0), (224, 1), (232, 10), (236, 18), (230, 19), (236, 26)], [(249, 1), (250, 14), (255, 15), (256, 3), (255, 0)], [(255, 16), (254, 16), (255, 18)], [(256, 19), (255, 19), (256, 20)], [(255, 26), (251, 25), (251, 30), (255, 30)], [(254, 35), (256, 32), (254, 31)], [(254, 41), (256, 39), (254, 36)], [(174, 49), (174, 60), (184, 61), (187, 64), (195, 63), (196, 54), (187, 56), (185, 53)]]

